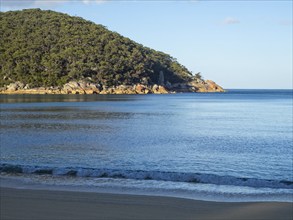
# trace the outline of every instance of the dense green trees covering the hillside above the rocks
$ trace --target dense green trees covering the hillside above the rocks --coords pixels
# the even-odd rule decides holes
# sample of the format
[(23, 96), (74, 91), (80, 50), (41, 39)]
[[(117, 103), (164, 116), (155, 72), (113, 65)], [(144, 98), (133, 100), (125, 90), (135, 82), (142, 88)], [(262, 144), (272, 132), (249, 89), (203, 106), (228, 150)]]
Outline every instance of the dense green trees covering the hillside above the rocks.
[(173, 57), (79, 17), (40, 9), (0, 12), (0, 86), (21, 81), (60, 86), (84, 79), (105, 85), (183, 82)]

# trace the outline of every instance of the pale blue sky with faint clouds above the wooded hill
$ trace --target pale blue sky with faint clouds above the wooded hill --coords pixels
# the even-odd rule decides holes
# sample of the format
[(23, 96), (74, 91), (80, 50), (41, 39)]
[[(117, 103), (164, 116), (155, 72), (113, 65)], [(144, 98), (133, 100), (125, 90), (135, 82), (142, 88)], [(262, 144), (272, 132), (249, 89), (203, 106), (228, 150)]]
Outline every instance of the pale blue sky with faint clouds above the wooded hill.
[(292, 89), (292, 0), (0, 0), (106, 26), (226, 89)]

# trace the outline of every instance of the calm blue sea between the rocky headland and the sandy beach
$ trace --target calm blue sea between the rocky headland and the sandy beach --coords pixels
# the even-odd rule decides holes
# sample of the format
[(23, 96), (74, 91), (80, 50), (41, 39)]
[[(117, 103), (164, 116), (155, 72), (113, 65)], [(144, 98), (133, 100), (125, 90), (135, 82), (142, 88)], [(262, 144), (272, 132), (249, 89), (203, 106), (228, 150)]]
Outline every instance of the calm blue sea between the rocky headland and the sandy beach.
[(2, 177), (293, 201), (292, 90), (0, 98)]

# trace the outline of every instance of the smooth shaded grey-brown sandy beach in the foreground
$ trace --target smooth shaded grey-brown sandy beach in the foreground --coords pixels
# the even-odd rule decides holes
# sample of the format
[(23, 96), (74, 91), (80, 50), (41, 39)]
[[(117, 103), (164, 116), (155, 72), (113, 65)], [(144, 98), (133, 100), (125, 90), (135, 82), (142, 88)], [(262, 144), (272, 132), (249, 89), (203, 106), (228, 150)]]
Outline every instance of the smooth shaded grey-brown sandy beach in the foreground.
[(1, 187), (1, 219), (292, 219), (293, 204)]

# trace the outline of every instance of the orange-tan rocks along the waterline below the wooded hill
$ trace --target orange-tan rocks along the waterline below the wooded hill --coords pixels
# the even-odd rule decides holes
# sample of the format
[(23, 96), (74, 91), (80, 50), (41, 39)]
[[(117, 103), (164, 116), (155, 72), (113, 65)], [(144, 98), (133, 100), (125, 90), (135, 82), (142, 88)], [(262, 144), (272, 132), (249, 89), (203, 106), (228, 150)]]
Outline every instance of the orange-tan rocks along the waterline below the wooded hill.
[(22, 82), (10, 83), (0, 88), (0, 94), (168, 94), (178, 92), (224, 92), (225, 90), (211, 80), (193, 80), (188, 83), (166, 83), (164, 85), (119, 85), (102, 86), (92, 82), (70, 81), (63, 87), (30, 88)]

